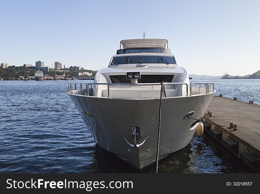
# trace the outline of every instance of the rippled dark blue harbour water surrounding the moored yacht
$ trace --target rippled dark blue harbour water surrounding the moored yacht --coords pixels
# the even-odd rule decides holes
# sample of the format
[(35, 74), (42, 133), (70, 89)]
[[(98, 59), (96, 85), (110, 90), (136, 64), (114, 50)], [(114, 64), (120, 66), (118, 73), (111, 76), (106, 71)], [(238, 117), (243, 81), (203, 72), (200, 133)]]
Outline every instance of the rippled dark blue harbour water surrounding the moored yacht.
[[(215, 81), (217, 94), (260, 104), (260, 80), (203, 81)], [(67, 83), (0, 81), (0, 172), (139, 172), (95, 144), (66, 94)], [(142, 172), (155, 172), (155, 165)], [(162, 159), (159, 172), (253, 171), (205, 132)]]

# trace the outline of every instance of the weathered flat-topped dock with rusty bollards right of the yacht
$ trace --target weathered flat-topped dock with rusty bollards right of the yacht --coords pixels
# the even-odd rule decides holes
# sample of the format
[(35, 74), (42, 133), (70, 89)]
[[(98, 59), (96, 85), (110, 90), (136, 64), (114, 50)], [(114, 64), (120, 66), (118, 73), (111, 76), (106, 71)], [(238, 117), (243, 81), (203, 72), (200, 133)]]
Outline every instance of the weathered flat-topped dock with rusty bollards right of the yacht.
[[(204, 123), (204, 131), (210, 133), (230, 151), (256, 172), (260, 172), (260, 105), (214, 96), (203, 121), (229, 127), (238, 124), (238, 130)], [(206, 113), (207, 113), (206, 111)]]

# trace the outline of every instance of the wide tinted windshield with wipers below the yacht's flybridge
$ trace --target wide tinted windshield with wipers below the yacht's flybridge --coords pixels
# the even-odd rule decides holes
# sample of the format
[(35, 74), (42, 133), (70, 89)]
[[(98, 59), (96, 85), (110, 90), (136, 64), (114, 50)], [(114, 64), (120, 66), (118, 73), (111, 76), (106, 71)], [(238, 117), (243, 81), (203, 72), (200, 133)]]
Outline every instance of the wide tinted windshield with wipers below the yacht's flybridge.
[[(176, 64), (173, 56), (127, 56), (127, 57), (114, 57), (111, 65), (128, 64), (128, 63), (169, 63)], [(167, 62), (166, 62), (167, 61)]]

